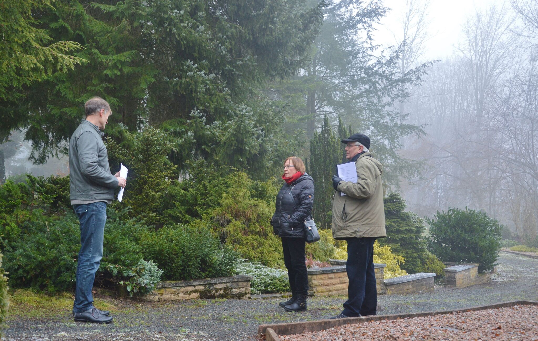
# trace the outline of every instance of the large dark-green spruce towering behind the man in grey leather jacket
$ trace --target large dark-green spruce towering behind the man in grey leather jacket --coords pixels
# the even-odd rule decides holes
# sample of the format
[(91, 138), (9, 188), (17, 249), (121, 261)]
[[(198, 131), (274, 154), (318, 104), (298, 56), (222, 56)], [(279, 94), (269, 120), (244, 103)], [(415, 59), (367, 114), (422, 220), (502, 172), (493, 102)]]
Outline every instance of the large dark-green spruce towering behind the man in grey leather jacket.
[[(66, 152), (65, 141), (83, 118), (83, 103), (101, 96), (115, 114), (105, 132), (119, 143), (123, 129), (134, 132), (150, 124), (167, 133), (175, 151), (171, 160), (180, 169), (188, 159), (214, 158), (252, 172), (271, 164), (285, 139), (279, 120), (267, 119), (280, 115), (280, 108), (266, 105), (270, 96), (263, 84), (293, 75), (307, 62), (325, 5), (307, 0), (51, 4), (23, 23), (44, 27), (51, 44), (76, 41), (79, 45), (70, 47), (82, 49), (74, 57), (87, 62), (25, 84), (22, 97), (0, 111), (5, 131), (25, 129), (35, 162)], [(0, 74), (2, 82), (10, 80)], [(197, 124), (200, 117), (203, 124)], [(244, 129), (245, 122), (251, 129)], [(214, 129), (224, 135), (215, 136)], [(223, 142), (233, 147), (233, 155), (226, 149), (217, 158), (215, 145)]]

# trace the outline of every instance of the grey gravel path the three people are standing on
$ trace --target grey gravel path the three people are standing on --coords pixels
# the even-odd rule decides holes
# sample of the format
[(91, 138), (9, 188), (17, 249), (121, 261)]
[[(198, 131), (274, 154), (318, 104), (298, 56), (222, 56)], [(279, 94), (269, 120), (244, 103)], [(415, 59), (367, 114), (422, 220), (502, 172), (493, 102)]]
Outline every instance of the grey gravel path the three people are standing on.
[[(434, 293), (378, 296), (378, 314), (451, 310), (513, 300), (538, 301), (538, 260), (501, 253), (498, 275), (486, 285), (436, 287)], [(309, 321), (339, 314), (344, 296), (314, 297), (308, 311), (285, 312), (281, 299), (190, 300), (162, 303), (113, 300), (114, 323), (74, 323), (70, 311), (53, 318), (11, 317), (6, 340), (257, 340), (259, 324)], [(99, 307), (98, 307), (99, 308)]]

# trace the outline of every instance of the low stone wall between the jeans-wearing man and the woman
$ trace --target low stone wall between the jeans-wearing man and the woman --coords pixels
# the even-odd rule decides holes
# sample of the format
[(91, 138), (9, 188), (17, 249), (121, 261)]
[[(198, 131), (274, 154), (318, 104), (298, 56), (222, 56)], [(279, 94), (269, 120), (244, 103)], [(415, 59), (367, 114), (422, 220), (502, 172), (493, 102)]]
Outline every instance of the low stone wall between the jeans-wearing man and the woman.
[(236, 275), (193, 281), (159, 282), (153, 292), (143, 295), (145, 301), (188, 299), (248, 299), (252, 276)]

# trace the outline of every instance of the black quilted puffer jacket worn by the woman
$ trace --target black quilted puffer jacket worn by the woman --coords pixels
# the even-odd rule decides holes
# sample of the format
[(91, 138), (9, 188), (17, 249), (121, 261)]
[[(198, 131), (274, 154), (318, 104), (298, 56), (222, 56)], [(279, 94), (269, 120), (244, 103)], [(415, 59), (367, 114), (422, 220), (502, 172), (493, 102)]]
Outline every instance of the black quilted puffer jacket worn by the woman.
[(314, 180), (307, 173), (291, 184), (284, 183), (277, 195), (271, 218), (273, 232), (279, 237), (305, 238), (303, 222), (310, 219), (314, 205)]

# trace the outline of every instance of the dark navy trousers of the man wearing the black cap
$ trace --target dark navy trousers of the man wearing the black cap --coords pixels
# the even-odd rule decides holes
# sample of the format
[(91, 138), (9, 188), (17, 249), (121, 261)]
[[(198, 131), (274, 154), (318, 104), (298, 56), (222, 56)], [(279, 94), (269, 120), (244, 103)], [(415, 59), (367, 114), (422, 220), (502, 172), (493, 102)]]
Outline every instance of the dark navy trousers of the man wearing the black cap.
[(373, 243), (376, 238), (348, 238), (348, 301), (342, 314), (349, 317), (376, 315), (377, 286), (373, 268)]

